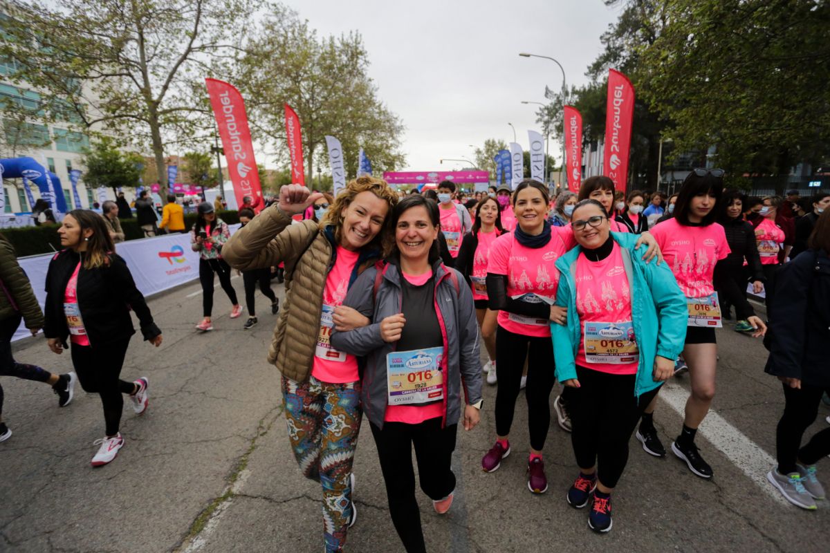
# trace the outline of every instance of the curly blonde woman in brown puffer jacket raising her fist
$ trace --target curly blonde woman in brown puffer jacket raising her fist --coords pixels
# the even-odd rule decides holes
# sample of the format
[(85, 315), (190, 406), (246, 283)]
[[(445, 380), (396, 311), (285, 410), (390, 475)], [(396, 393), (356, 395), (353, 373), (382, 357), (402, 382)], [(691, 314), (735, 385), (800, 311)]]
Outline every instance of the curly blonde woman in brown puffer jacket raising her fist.
[(329, 338), (334, 327), (369, 323), (342, 303), (358, 275), (392, 250), (390, 214), (398, 194), (383, 180), (359, 177), (322, 221), (291, 224), (291, 216), (322, 197), (299, 184), (281, 187), (279, 201), (238, 230), (222, 255), (242, 270), (286, 264), (286, 298), (268, 360), (282, 373), (297, 463), (323, 487), (326, 551), (342, 551), (356, 518), (351, 473), (362, 418), (360, 376), (357, 358), (331, 347)]

